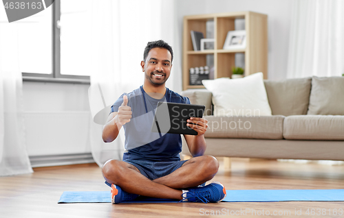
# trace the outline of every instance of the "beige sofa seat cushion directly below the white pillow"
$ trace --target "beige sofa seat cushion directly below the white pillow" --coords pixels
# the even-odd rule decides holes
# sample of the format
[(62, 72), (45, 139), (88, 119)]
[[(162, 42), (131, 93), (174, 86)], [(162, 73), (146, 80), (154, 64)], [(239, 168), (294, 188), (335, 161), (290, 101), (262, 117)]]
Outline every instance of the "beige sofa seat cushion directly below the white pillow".
[[(237, 79), (236, 79), (237, 80)], [(283, 138), (284, 116), (266, 117), (214, 117), (205, 116), (208, 138)]]

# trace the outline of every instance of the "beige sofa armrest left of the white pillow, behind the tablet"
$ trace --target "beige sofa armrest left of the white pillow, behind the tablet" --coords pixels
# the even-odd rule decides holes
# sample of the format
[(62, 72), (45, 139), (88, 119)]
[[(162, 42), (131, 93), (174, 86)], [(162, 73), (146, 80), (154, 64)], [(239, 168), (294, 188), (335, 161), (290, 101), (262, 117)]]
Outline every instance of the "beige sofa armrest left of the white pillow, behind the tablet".
[(187, 89), (182, 91), (182, 95), (189, 97), (191, 104), (200, 104), (206, 106), (204, 115), (210, 116), (213, 114), (213, 104), (211, 97), (213, 94), (205, 88)]

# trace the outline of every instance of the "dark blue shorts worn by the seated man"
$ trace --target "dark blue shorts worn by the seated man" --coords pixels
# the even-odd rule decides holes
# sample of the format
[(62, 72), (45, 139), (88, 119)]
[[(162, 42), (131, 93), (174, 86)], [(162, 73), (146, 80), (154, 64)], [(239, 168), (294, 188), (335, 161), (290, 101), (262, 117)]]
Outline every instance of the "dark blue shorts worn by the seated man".
[(173, 162), (152, 162), (147, 160), (123, 160), (134, 167), (138, 168), (140, 173), (149, 180), (155, 180), (173, 173), (175, 170), (182, 167), (187, 160), (173, 161)]

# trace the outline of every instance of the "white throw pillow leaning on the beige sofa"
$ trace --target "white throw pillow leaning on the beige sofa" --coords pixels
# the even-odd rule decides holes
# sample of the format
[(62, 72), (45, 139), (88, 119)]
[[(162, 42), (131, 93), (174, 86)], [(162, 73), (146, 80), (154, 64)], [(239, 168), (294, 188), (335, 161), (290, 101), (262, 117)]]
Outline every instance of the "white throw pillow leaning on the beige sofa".
[(213, 93), (214, 116), (271, 116), (263, 73), (202, 83)]

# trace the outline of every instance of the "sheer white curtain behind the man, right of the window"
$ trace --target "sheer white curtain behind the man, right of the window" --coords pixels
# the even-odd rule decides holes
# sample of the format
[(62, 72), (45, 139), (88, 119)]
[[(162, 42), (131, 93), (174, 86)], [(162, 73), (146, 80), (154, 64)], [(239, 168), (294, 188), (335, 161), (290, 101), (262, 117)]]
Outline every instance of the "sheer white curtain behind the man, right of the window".
[(173, 47), (171, 76), (166, 86), (182, 90), (180, 40), (173, 0), (92, 1), (89, 103), (94, 121), (90, 129), (92, 154), (99, 166), (110, 158), (120, 160), (124, 132), (113, 143), (103, 143), (101, 132), (109, 108), (122, 93), (143, 84), (140, 62), (144, 47), (152, 40), (165, 40)]

